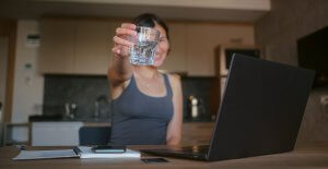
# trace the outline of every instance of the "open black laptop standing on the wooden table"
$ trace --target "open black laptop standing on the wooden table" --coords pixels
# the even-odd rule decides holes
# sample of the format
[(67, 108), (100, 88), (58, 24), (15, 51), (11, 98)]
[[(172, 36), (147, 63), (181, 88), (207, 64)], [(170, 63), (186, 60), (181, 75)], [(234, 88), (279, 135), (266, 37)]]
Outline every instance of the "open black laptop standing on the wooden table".
[(293, 150), (315, 71), (235, 53), (210, 145), (142, 153), (216, 161)]

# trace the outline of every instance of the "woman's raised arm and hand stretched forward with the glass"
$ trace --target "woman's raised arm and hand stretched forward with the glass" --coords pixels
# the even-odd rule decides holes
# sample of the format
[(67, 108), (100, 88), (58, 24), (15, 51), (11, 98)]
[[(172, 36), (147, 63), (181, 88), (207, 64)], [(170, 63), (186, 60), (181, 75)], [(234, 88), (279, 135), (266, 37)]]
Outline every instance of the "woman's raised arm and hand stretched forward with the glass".
[(114, 57), (107, 72), (112, 87), (119, 86), (132, 75), (132, 65), (129, 63), (129, 48), (132, 43), (126, 37), (137, 35), (134, 29), (136, 25), (130, 23), (124, 23), (116, 28), (116, 35), (113, 37), (114, 47), (112, 48)]

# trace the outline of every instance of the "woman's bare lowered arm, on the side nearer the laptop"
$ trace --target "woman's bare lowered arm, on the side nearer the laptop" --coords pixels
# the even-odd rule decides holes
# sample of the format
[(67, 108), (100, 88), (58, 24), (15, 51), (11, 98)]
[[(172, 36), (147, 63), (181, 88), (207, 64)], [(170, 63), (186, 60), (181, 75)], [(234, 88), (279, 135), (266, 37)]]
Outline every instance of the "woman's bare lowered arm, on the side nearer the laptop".
[(173, 108), (174, 113), (166, 132), (166, 144), (178, 145), (181, 140), (183, 128), (183, 89), (178, 75), (169, 75), (171, 86), (173, 90)]

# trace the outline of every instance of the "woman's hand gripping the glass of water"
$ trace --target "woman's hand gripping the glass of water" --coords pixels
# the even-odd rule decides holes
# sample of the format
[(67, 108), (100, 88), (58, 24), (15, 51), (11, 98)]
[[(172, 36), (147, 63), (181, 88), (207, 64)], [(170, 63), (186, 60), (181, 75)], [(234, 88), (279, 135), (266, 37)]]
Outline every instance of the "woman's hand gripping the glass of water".
[(122, 23), (120, 27), (116, 28), (116, 35), (113, 37), (114, 47), (112, 51), (115, 57), (127, 58), (129, 56), (129, 48), (133, 43), (128, 40), (129, 36), (136, 36), (136, 25), (131, 23)]

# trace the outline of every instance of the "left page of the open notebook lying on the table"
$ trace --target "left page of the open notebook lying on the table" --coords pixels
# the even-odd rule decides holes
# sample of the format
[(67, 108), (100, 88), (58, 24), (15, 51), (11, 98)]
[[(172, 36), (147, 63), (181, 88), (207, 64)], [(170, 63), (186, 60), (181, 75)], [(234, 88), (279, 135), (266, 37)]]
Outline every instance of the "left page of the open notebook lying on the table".
[(14, 160), (79, 157), (73, 149), (58, 150), (21, 150)]

